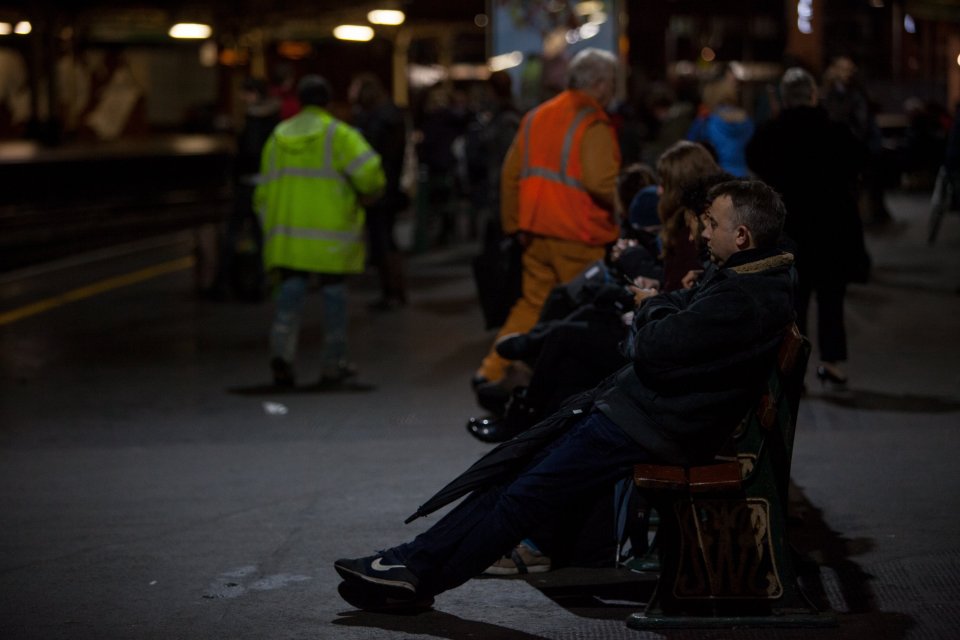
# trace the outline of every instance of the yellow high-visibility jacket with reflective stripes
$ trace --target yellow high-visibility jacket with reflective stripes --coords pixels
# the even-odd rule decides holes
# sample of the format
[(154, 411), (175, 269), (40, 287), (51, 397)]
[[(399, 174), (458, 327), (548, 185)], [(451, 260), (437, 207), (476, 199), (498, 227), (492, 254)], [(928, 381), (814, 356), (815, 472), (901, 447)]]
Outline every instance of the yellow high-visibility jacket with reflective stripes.
[(353, 127), (307, 106), (274, 129), (263, 148), (254, 207), (263, 263), (317, 273), (359, 273), (364, 210), (382, 190), (380, 156)]

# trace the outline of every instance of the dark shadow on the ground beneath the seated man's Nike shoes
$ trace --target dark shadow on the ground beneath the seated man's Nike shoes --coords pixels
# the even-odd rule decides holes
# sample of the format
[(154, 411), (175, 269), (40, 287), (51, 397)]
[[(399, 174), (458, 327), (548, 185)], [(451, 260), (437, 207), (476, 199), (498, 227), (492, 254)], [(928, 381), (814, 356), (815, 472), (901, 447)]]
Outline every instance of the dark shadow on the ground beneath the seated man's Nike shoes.
[(463, 638), (547, 640), (544, 636), (501, 627), (488, 622), (464, 620), (449, 613), (435, 610), (417, 615), (402, 616), (352, 610), (342, 612), (340, 615), (340, 618), (333, 620), (333, 624), (343, 627), (368, 627), (420, 636), (449, 638), (450, 640), (462, 640)]

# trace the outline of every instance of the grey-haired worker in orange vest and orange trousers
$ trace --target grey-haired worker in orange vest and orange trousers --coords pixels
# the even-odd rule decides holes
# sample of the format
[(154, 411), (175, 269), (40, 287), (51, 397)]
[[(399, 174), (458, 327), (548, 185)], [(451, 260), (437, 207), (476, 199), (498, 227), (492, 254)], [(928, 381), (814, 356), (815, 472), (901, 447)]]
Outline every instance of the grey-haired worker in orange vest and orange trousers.
[[(570, 61), (567, 90), (523, 118), (501, 171), (500, 216), (524, 244), (523, 294), (497, 340), (526, 333), (547, 294), (603, 258), (617, 239), (614, 192), (620, 149), (604, 107), (616, 90), (617, 60), (584, 49)], [(473, 377), (481, 398), (508, 394), (510, 361), (495, 349)]]

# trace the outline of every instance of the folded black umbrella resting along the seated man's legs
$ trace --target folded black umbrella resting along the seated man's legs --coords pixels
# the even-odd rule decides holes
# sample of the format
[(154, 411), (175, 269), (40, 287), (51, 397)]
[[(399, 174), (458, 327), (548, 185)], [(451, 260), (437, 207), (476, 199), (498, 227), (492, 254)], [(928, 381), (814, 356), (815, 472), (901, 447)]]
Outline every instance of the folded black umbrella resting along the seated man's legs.
[(429, 515), (471, 491), (489, 487), (515, 475), (538, 451), (582, 418), (593, 405), (595, 395), (595, 390), (591, 389), (570, 398), (549, 418), (488, 451), (469, 469), (420, 505), (416, 513), (404, 520), (404, 524)]

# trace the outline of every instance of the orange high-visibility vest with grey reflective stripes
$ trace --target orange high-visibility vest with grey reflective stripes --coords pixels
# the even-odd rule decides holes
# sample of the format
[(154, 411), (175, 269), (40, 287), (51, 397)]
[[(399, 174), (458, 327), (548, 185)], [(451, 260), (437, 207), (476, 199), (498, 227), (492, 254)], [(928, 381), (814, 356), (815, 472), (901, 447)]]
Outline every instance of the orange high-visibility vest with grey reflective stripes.
[[(613, 216), (590, 197), (581, 182), (583, 133), (598, 121), (610, 124), (595, 100), (574, 90), (564, 91), (526, 115), (517, 139), (522, 158), (521, 230), (590, 245), (617, 239), (619, 229)], [(612, 127), (610, 135), (614, 135)], [(619, 163), (619, 150), (617, 156)]]

